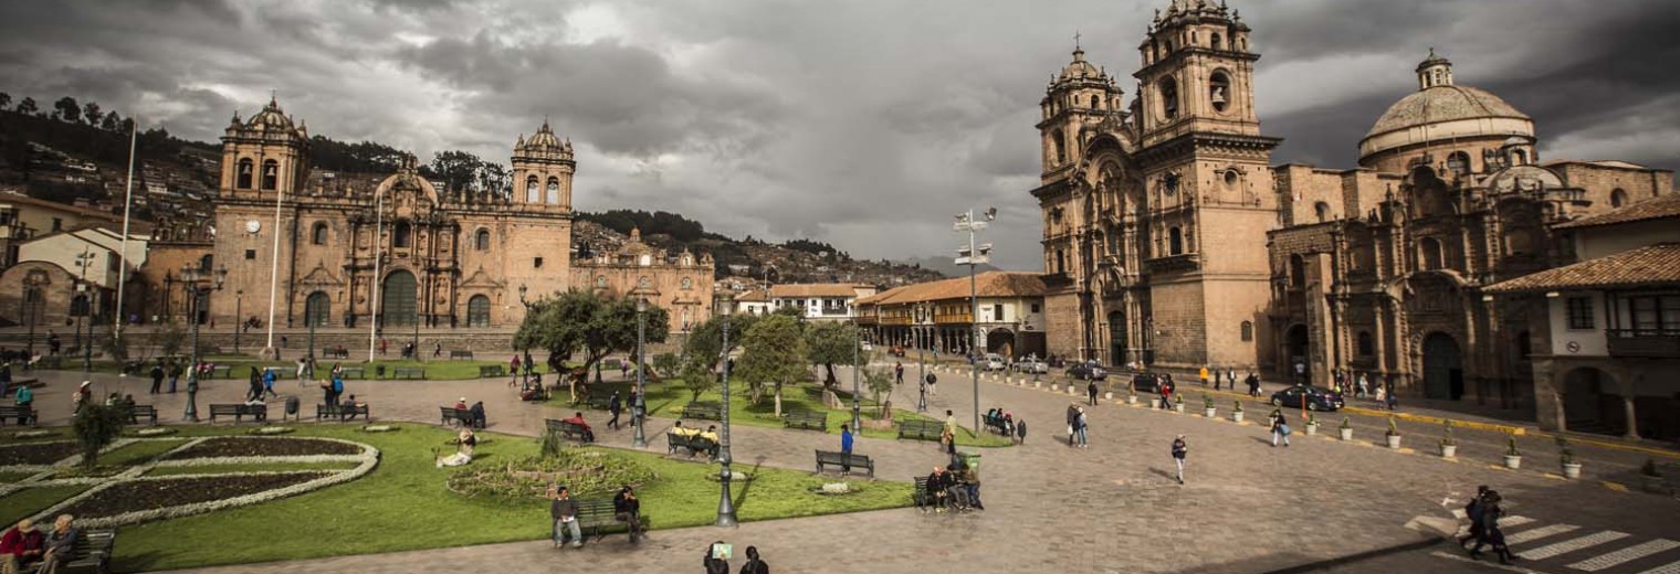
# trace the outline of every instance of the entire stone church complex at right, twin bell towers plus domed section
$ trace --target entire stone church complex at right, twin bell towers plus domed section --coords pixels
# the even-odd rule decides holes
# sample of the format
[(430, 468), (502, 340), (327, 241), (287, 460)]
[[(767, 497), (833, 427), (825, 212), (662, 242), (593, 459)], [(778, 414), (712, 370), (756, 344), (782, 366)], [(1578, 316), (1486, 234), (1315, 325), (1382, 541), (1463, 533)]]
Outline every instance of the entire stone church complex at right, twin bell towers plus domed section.
[(1074, 50), (1040, 102), (1048, 351), (1255, 369), (1532, 408), (1529, 314), (1482, 287), (1574, 260), (1554, 227), (1673, 193), (1673, 171), (1542, 161), (1534, 119), (1430, 54), (1359, 166), (1270, 163), (1250, 27), (1174, 0), (1136, 94)]

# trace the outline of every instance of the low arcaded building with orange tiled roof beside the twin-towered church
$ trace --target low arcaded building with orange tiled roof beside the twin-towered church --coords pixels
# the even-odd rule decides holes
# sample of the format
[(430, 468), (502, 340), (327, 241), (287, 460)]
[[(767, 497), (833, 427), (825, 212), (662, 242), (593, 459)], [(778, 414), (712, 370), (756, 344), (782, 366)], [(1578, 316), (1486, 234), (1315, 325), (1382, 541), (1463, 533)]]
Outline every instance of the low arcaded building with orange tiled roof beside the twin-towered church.
[(1043, 300), (1045, 282), (1038, 274), (984, 272), (973, 284), (968, 277), (944, 279), (858, 299), (857, 322), (870, 341), (884, 346), (966, 354), (979, 332), (983, 352), (1043, 357)]

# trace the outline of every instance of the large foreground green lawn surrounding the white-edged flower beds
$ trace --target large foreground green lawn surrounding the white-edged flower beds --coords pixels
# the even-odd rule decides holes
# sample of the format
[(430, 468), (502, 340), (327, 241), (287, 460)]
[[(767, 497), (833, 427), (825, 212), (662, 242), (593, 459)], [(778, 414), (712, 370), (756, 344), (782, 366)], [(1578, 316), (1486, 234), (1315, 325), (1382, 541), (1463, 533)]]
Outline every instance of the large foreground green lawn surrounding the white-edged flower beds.
[[(548, 537), (546, 502), (502, 504), (450, 493), (444, 488), (444, 478), (450, 470), (433, 467), (432, 450), (447, 448), (444, 441), (454, 433), (423, 425), (400, 426), (402, 430), (395, 433), (361, 433), (353, 426), (301, 425), (287, 436), (365, 441), (383, 451), (380, 467), (351, 483), (284, 500), (123, 527), (114, 567), (180, 569)], [(492, 440), (479, 445), (475, 465), (538, 451), (534, 438), (506, 435), (487, 435), (487, 438)], [(716, 467), (665, 460), (652, 453), (606, 451), (633, 457), (659, 477), (638, 488), (643, 514), (655, 529), (712, 522), (717, 485), (706, 480), (706, 475), (716, 473)], [(864, 490), (858, 493), (822, 497), (810, 493), (810, 488), (832, 478), (781, 468), (736, 468), (756, 477), (749, 483), (736, 485), (736, 509), (741, 520), (877, 510), (911, 504), (911, 483), (862, 482), (858, 485)], [(18, 495), (25, 493), (30, 492)], [(47, 498), (45, 493), (40, 495)], [(0, 507), (42, 509), (50, 504), (13, 504), (25, 498), (12, 498), (0, 500)], [(22, 515), (30, 510), (15, 512)], [(450, 524), (464, 527), (442, 527)], [(276, 532), (307, 535), (276, 535)]]

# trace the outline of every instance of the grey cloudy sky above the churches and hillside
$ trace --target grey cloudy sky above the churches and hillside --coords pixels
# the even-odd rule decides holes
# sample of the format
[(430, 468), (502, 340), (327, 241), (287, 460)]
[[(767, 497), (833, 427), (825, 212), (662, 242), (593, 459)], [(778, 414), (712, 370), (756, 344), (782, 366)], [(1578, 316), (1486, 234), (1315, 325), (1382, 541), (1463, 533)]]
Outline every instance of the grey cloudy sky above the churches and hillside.
[[(276, 91), (312, 133), (506, 161), (548, 116), (580, 210), (926, 257), (998, 206), (1038, 265), (1033, 123), (1074, 34), (1121, 74), (1169, 0), (0, 2), (0, 91), (210, 141)], [(1275, 161), (1352, 166), (1436, 47), (1536, 117), (1542, 158), (1680, 166), (1680, 2), (1226, 0), (1255, 32)]]

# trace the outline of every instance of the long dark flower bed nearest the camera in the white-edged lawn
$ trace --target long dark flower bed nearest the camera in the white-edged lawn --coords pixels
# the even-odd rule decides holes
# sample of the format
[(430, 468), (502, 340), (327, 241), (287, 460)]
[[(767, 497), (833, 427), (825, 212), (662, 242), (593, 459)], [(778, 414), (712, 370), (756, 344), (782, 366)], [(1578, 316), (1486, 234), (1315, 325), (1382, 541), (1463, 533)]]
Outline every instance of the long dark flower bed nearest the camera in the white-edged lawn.
[(323, 472), (252, 473), (223, 477), (193, 477), (168, 480), (131, 480), (101, 488), (72, 502), (59, 512), (81, 519), (108, 519), (129, 512), (181, 507), (212, 500), (235, 498), (265, 490), (284, 488), (326, 477)]

